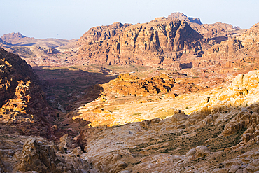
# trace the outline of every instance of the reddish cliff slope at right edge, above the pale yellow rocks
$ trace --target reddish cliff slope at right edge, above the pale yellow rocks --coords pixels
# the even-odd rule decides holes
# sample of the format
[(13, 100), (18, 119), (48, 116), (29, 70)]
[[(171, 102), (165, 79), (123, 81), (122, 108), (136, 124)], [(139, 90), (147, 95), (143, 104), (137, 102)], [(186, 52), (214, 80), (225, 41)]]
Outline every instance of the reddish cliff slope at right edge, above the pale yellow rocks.
[(215, 44), (205, 51), (202, 57), (193, 62), (194, 67), (209, 67), (218, 64), (222, 67), (245, 67), (258, 69), (258, 24), (237, 36)]

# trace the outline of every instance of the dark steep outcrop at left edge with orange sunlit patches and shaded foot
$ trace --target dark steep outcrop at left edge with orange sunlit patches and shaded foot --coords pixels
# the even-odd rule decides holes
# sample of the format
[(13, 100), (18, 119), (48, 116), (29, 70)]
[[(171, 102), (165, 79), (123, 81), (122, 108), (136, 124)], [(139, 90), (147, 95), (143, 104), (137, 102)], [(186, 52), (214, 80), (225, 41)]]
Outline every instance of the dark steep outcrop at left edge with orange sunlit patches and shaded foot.
[(18, 124), (14, 131), (50, 137), (55, 111), (48, 106), (31, 67), (18, 55), (3, 49), (0, 64), (1, 124)]

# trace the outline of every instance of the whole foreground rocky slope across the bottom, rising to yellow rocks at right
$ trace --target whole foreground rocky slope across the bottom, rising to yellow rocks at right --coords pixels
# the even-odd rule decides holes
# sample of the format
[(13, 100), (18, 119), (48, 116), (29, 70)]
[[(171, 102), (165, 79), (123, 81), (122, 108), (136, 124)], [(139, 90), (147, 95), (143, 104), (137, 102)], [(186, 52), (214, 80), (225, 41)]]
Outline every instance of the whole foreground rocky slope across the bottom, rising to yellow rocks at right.
[[(0, 170), (257, 173), (258, 81), (259, 71), (239, 74), (228, 87), (199, 92), (202, 99), (193, 109), (181, 111), (176, 104), (169, 105), (167, 118), (85, 127), (73, 139), (66, 134), (59, 141), (47, 141), (1, 130)], [(195, 95), (189, 96), (196, 102)], [(173, 99), (164, 106), (159, 105), (162, 102), (151, 104), (166, 109), (162, 112), (166, 114), (165, 105)]]

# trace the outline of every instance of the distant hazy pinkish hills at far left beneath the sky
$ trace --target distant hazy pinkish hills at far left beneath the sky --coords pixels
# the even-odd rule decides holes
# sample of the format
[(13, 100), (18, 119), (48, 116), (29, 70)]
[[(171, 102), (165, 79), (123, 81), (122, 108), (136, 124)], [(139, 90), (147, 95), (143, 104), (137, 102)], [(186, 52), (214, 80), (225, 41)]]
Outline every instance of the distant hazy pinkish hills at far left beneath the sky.
[(8, 52), (22, 57), (32, 67), (68, 64), (66, 58), (78, 49), (76, 40), (34, 39), (19, 32), (1, 36), (0, 45)]

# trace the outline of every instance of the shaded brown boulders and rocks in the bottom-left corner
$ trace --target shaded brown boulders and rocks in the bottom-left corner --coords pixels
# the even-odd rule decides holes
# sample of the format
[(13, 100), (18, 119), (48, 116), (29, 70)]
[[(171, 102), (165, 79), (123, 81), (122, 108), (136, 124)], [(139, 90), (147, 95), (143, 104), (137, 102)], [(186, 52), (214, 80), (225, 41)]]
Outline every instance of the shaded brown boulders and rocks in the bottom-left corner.
[[(66, 135), (68, 143), (74, 142)], [(62, 140), (64, 142), (64, 140)], [(61, 143), (62, 143), (61, 142)], [(0, 170), (2, 172), (38, 173), (83, 173), (90, 170), (87, 161), (80, 155), (80, 147), (63, 147), (58, 141), (48, 141), (39, 137), (15, 136), (0, 140)]]

